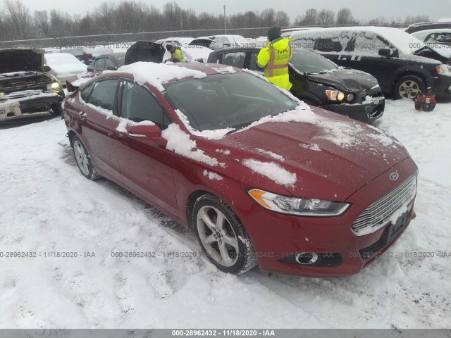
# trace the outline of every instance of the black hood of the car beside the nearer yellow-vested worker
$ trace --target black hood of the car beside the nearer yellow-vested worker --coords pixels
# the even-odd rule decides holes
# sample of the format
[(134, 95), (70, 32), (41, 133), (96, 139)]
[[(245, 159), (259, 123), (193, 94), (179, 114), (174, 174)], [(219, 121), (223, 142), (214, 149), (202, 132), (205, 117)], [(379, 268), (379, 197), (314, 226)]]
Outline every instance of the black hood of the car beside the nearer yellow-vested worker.
[(378, 86), (378, 80), (368, 73), (354, 69), (338, 69), (307, 74), (309, 80), (332, 86), (343, 92), (363, 92)]

